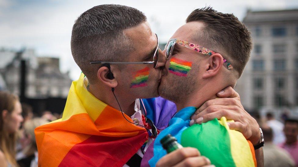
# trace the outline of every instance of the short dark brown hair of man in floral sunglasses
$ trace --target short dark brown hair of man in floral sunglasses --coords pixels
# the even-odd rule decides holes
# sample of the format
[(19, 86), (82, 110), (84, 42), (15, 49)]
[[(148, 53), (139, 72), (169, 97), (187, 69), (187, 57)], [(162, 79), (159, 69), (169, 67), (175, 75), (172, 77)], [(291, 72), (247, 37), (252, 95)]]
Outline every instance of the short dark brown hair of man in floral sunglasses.
[(217, 12), (212, 7), (195, 9), (187, 17), (186, 23), (193, 21), (204, 23), (197, 37), (207, 45), (203, 47), (215, 52), (213, 48), (222, 50), (224, 53), (220, 54), (227, 57), (240, 77), (252, 50), (252, 39), (246, 26), (233, 14)]

